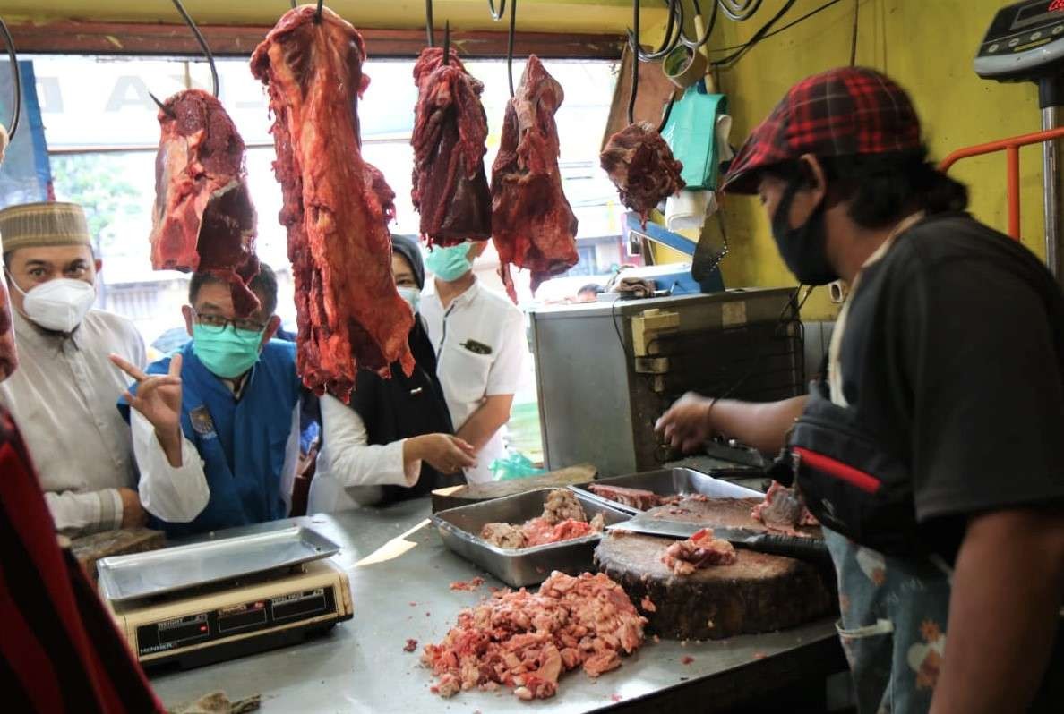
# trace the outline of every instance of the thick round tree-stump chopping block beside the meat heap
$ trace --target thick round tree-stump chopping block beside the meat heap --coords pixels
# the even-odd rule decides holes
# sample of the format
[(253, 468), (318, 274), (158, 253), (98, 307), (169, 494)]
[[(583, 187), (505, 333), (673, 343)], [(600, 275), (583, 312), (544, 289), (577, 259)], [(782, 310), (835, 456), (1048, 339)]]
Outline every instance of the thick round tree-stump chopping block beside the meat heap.
[[(609, 532), (595, 550), (600, 571), (624, 586), (661, 636), (721, 640), (771, 632), (828, 614), (834, 596), (815, 565), (737, 549), (738, 561), (675, 575), (662, 563), (675, 541)], [(654, 610), (643, 607), (649, 597)]]

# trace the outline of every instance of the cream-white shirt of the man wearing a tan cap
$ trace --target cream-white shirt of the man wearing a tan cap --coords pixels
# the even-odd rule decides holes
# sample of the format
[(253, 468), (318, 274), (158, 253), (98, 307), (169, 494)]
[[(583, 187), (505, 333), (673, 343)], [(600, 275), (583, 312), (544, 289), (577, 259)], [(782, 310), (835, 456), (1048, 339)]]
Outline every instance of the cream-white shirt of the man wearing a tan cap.
[(84, 536), (121, 527), (119, 488), (136, 488), (130, 431), (118, 412), (129, 385), (116, 353), (139, 368), (133, 323), (89, 310), (71, 335), (41, 329), (12, 310), (19, 364), (0, 384), (0, 404), (26, 440), (55, 528)]

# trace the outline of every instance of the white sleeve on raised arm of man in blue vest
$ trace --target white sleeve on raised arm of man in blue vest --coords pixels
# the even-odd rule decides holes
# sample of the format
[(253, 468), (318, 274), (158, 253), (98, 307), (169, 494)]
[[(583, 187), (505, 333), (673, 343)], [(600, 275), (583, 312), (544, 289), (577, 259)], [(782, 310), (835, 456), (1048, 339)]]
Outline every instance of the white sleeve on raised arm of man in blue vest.
[(211, 499), (211, 489), (196, 446), (182, 435), (178, 445), (180, 465), (173, 466), (160, 443), (155, 427), (136, 409), (130, 410), (130, 427), (133, 431), (133, 455), (140, 472), (137, 484), (140, 505), (168, 523), (195, 520)]

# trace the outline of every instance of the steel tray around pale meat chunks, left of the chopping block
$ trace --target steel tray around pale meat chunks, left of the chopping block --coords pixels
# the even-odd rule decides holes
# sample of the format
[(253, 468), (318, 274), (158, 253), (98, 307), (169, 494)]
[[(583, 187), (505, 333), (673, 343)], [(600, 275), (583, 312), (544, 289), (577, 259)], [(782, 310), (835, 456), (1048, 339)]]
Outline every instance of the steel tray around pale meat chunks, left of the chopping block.
[[(434, 513), (432, 521), (439, 530), (444, 544), (466, 560), (480, 565), (508, 585), (537, 585), (550, 576), (551, 571), (578, 575), (592, 570), (592, 557), (601, 536), (594, 533), (531, 548), (506, 549), (481, 539), (480, 531), (488, 523), (521, 524), (542, 515), (547, 494), (553, 490), (537, 489), (450, 508)], [(591, 498), (582, 493), (575, 495), (588, 521), (601, 513), (605, 525), (611, 526), (631, 517), (626, 511), (599, 498)]]

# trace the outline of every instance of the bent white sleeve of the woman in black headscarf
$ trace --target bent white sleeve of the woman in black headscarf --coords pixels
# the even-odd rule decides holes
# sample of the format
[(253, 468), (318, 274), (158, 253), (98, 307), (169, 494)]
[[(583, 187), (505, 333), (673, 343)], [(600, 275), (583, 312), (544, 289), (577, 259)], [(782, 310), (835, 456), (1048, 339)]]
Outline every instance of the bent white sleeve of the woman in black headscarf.
[(414, 486), (421, 461), (406, 458), (400, 439), (390, 444), (370, 444), (359, 412), (328, 394), (321, 397), (321, 450), (318, 475), (335, 478), (344, 488), (355, 486)]

